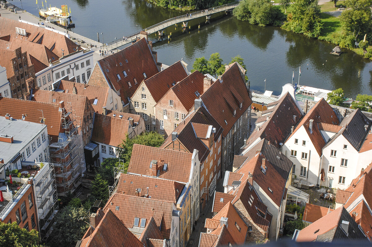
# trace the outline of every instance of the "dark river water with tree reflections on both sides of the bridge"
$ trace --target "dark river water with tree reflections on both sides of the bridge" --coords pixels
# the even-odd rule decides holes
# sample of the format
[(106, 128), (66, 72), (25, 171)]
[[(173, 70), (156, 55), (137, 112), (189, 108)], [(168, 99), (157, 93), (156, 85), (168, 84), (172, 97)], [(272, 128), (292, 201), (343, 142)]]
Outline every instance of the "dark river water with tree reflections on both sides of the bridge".
[[(35, 1), (23, 0), (22, 3), (24, 9), (38, 15)], [(48, 7), (49, 4), (57, 7), (67, 4), (76, 24), (73, 31), (94, 40), (98, 32), (100, 42), (104, 39), (105, 43), (185, 14), (144, 0), (47, 0)], [(41, 0), (39, 7), (42, 7)], [(344, 50), (340, 57), (331, 55), (332, 44), (280, 28), (249, 25), (224, 14), (212, 16), (210, 23), (205, 21), (205, 17), (190, 21), (191, 29), (184, 32), (181, 25), (167, 28), (166, 34), (173, 34), (170, 41), (155, 42), (157, 36), (151, 34), (149, 39), (155, 42), (158, 61), (170, 65), (183, 58), (191, 70), (195, 58), (205, 56), (208, 59), (214, 52), (219, 52), (224, 63), (240, 55), (247, 65), (247, 76), (254, 90), (263, 92), (266, 78), (266, 90), (279, 94), (283, 84), (292, 83), (293, 71), (294, 82), (298, 82), (301, 66), (301, 85), (328, 90), (342, 87), (346, 96), (353, 98), (358, 93), (372, 95), (372, 61), (352, 51)]]

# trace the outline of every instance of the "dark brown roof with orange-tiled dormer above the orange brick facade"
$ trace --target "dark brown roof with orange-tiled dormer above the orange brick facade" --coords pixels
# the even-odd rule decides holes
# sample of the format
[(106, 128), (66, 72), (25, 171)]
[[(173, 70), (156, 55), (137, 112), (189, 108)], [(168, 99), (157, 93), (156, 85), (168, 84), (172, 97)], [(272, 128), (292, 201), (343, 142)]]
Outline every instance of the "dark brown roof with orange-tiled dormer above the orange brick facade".
[[(211, 114), (202, 106), (196, 111), (193, 110), (190, 112), (189, 115), (183, 119), (183, 122), (181, 122), (177, 128), (174, 129), (174, 132), (177, 132), (177, 140), (181, 142), (190, 153), (192, 153), (194, 149), (198, 150), (199, 161), (201, 163), (204, 162), (210, 150), (209, 147), (207, 147), (197, 135), (199, 134), (200, 137), (203, 137), (207, 125), (216, 128), (216, 132), (214, 133), (214, 141), (217, 141), (219, 136), (222, 134), (223, 129), (211, 116)], [(171, 147), (172, 142), (172, 135), (169, 135), (164, 141), (163, 145), (161, 145), (161, 148), (167, 148), (168, 146)]]

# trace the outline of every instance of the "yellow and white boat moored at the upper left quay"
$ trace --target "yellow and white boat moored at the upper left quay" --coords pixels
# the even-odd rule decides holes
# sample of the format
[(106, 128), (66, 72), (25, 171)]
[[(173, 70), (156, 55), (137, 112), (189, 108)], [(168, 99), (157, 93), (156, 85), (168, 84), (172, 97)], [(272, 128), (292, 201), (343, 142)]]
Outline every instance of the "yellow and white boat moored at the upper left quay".
[(39, 9), (40, 18), (52, 22), (62, 28), (74, 28), (75, 23), (71, 20), (71, 14), (68, 13), (67, 5), (61, 5), (62, 9), (50, 7), (48, 9)]

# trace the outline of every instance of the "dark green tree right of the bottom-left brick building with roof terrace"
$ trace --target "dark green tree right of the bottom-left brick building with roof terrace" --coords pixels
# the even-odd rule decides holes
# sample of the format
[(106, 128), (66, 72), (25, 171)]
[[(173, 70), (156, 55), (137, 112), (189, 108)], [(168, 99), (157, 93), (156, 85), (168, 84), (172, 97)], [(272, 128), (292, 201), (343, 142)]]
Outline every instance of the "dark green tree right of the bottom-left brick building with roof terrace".
[(55, 215), (53, 237), (50, 238), (48, 244), (55, 247), (75, 246), (76, 242), (81, 240), (89, 227), (84, 222), (87, 216), (89, 215), (83, 207), (66, 206), (60, 209)]

